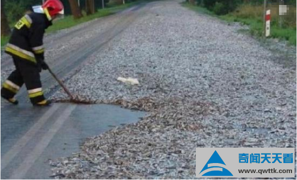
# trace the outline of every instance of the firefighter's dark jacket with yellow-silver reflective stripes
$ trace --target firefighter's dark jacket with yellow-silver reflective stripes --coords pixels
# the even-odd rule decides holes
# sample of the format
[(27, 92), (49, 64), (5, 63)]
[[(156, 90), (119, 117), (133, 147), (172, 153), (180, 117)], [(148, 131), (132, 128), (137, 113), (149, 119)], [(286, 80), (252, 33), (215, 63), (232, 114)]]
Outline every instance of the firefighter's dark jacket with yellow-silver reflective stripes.
[(31, 12), (15, 24), (5, 52), (33, 64), (44, 59), (43, 35), (52, 25), (46, 14)]

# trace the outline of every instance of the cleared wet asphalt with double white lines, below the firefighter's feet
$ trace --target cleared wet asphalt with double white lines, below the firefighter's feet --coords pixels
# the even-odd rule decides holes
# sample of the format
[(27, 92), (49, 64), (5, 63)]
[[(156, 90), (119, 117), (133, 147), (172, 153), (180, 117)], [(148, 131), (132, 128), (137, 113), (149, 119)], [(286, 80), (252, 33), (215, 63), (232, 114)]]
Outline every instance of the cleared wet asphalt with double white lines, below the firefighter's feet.
[(135, 123), (144, 112), (112, 105), (1, 103), (1, 179), (50, 179), (49, 160), (79, 151), (87, 137)]

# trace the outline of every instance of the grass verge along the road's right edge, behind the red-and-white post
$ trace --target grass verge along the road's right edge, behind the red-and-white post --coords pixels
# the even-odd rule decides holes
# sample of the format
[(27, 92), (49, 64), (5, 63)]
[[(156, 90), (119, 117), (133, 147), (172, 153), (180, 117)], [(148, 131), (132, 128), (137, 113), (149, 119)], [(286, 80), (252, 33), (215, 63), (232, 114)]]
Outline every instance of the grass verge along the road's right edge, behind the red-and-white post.
[[(197, 5), (192, 5), (189, 3), (181, 3), (183, 6), (194, 10), (199, 13), (204, 13), (212, 16), (216, 16), (222, 20), (228, 22), (240, 22), (242, 24), (248, 25), (249, 31), (252, 35), (261, 37), (263, 34), (263, 8), (262, 6), (253, 6), (250, 4), (244, 4), (239, 6), (234, 12), (228, 13), (226, 15), (216, 15), (214, 12)], [(274, 6), (269, 6), (268, 8), (272, 11), (272, 21), (271, 21), (271, 31), (270, 37), (279, 38), (287, 40), (290, 45), (296, 46), (296, 21), (287, 23), (286, 26), (279, 26), (278, 12)], [(296, 16), (296, 7), (295, 7)], [(296, 20), (296, 17), (295, 17)]]

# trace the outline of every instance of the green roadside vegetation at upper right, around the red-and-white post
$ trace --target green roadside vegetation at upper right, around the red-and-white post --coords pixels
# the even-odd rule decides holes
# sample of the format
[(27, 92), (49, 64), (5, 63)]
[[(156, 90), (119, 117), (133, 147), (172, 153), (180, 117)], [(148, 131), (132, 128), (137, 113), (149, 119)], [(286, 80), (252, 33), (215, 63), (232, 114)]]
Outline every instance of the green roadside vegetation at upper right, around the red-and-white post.
[[(218, 4), (218, 3), (215, 3)], [(263, 4), (242, 3), (225, 15), (220, 12), (222, 4), (214, 5), (213, 8), (182, 3), (183, 6), (199, 13), (216, 16), (228, 22), (241, 22), (249, 25), (250, 33), (256, 36), (263, 34)], [(216, 7), (217, 6), (217, 7)], [(278, 5), (269, 4), (271, 9), (271, 35), (270, 37), (288, 40), (290, 45), (296, 46), (296, 6), (290, 6), (287, 15), (278, 15)]]

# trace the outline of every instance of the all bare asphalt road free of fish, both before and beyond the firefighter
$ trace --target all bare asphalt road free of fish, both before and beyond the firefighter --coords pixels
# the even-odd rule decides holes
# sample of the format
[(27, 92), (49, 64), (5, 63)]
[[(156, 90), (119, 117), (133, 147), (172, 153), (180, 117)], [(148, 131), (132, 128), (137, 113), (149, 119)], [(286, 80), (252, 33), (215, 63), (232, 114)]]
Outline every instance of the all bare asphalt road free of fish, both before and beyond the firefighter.
[[(47, 62), (60, 78), (79, 72), (80, 65), (85, 63), (89, 55), (100, 51), (102, 46), (137, 18), (143, 5), (94, 20), (89, 28), (74, 27), (63, 36), (47, 38), (48, 49), (52, 51), (57, 48), (57, 44), (96, 28), (105, 19), (115, 19), (113, 24), (104, 27), (100, 33), (93, 32), (84, 43), (78, 43), (79, 48), (73, 44), (67, 51), (47, 58)], [(1, 57), (1, 81), (13, 69), (7, 60), (9, 57)], [(57, 83), (48, 72), (42, 72), (41, 80), (45, 95), (57, 90)], [(16, 98), (20, 101), (17, 106), (1, 99), (1, 179), (51, 179), (48, 165), (50, 159), (69, 156), (79, 151), (79, 144), (87, 137), (99, 135), (116, 126), (135, 123), (145, 115), (144, 112), (99, 104), (54, 103), (51, 107), (32, 107), (24, 87)]]

